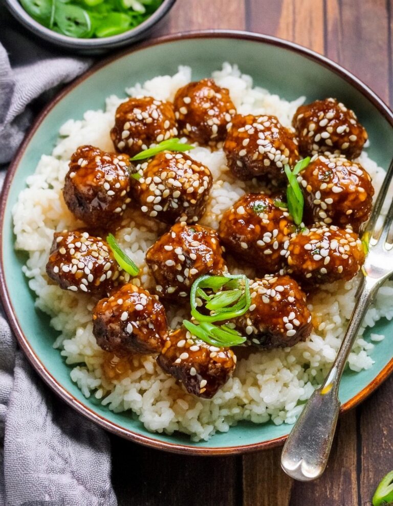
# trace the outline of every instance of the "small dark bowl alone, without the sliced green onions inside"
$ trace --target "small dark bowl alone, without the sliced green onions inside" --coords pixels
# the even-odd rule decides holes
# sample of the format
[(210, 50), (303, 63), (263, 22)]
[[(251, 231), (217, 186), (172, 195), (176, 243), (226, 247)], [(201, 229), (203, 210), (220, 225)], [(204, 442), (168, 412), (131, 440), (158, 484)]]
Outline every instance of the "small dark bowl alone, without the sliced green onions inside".
[(11, 14), (34, 35), (63, 49), (82, 54), (99, 54), (121, 48), (146, 38), (151, 29), (170, 11), (176, 0), (164, 0), (160, 7), (143, 23), (119, 35), (103, 38), (76, 38), (56, 33), (33, 19), (21, 6), (19, 0), (5, 0)]

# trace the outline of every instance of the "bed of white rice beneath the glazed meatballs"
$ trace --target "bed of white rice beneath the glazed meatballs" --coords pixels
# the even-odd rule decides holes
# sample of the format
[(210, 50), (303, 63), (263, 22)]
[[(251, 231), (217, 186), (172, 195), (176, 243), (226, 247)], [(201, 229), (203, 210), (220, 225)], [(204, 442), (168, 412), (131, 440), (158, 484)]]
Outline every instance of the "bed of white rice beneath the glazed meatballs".
[[(239, 113), (274, 114), (282, 124), (290, 126), (291, 118), (304, 97), (288, 102), (258, 87), (252, 78), (242, 75), (236, 66), (224, 64), (213, 73), (220, 86), (230, 90)], [(155, 77), (143, 85), (127, 89), (132, 96), (150, 95), (173, 99), (174, 93), (191, 80), (191, 69), (180, 67), (174, 76)], [(314, 330), (305, 343), (292, 348), (260, 351), (238, 360), (235, 374), (210, 400), (188, 394), (176, 380), (165, 374), (152, 356), (134, 356), (132, 372), (123, 379), (111, 381), (102, 370), (103, 352), (92, 333), (93, 301), (84, 294), (61, 290), (48, 284), (45, 266), (55, 230), (74, 229), (82, 225), (75, 220), (62, 198), (64, 176), (71, 154), (80, 144), (93, 144), (113, 150), (110, 139), (115, 109), (122, 99), (111, 96), (105, 111), (87, 111), (83, 120), (70, 119), (60, 128), (60, 137), (51, 156), (43, 155), (34, 174), (27, 179), (13, 210), (16, 248), (29, 252), (23, 270), (30, 288), (36, 293), (36, 306), (51, 316), (51, 325), (60, 332), (54, 347), (61, 350), (71, 366), (71, 378), (86, 397), (94, 395), (115, 412), (133, 410), (150, 431), (171, 434), (181, 431), (198, 441), (208, 439), (216, 431), (226, 432), (238, 420), (264, 423), (271, 419), (276, 425), (293, 424), (305, 399), (329, 370), (339, 348), (347, 320), (355, 304), (358, 279), (337, 282), (321, 289), (310, 300)], [(204, 147), (192, 151), (192, 157), (205, 163), (214, 177), (211, 199), (201, 223), (214, 228), (234, 201), (250, 189), (255, 181), (237, 181), (226, 166), (222, 150), (211, 153)], [(383, 170), (370, 160), (366, 152), (360, 162), (372, 175), (376, 191), (383, 179)], [(145, 220), (143, 222), (143, 220)], [(141, 268), (141, 283), (149, 288), (152, 280), (144, 263), (146, 249), (160, 235), (162, 225), (133, 213), (125, 215), (124, 227), (117, 238), (122, 247)], [(232, 270), (239, 266), (232, 265)], [(247, 272), (248, 273), (248, 272)], [(252, 273), (250, 273), (251, 275)], [(393, 318), (393, 283), (382, 287), (364, 320), (372, 327), (383, 316)], [(168, 315), (171, 326), (181, 320), (181, 311)], [(371, 341), (359, 337), (350, 354), (348, 365), (354, 371), (372, 367), (369, 352), (383, 335), (371, 334)]]

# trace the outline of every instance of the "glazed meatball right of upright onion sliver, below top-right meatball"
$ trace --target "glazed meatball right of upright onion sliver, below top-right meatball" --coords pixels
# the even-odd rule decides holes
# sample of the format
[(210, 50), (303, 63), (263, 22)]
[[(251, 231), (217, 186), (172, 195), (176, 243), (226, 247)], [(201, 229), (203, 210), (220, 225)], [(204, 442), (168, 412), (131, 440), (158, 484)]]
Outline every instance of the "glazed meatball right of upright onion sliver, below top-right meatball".
[(313, 222), (333, 223), (355, 231), (368, 220), (374, 187), (369, 174), (343, 157), (319, 155), (298, 176)]

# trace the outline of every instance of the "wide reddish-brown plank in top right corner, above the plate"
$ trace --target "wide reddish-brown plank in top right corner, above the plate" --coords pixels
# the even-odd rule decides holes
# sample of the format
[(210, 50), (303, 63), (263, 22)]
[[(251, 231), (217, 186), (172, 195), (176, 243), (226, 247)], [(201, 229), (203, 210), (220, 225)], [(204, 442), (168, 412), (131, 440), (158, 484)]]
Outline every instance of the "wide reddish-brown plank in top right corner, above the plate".
[[(389, 1), (326, 0), (326, 56), (389, 100)], [(391, 76), (390, 76), (391, 77)]]

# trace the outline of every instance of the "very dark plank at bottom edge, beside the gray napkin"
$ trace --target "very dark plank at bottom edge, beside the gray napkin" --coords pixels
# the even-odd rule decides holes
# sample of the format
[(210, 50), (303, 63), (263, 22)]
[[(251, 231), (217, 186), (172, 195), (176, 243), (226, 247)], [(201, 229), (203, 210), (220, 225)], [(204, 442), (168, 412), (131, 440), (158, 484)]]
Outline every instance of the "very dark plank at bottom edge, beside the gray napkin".
[(197, 457), (152, 450), (112, 436), (112, 480), (119, 506), (236, 506), (240, 457)]

